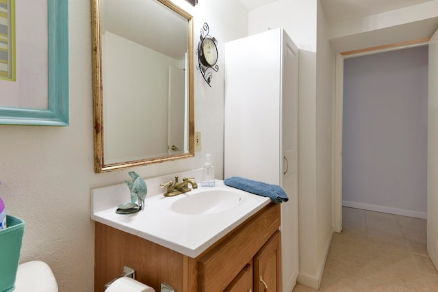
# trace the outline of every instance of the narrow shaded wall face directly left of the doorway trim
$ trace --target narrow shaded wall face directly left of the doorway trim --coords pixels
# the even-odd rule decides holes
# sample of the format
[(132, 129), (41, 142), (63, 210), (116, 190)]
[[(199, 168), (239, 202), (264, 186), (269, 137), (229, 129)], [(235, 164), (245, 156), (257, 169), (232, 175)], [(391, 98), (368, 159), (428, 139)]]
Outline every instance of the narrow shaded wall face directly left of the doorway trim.
[(316, 216), (317, 276), (320, 282), (333, 235), (333, 106), (335, 54), (327, 40), (326, 19), (318, 1), (316, 50)]

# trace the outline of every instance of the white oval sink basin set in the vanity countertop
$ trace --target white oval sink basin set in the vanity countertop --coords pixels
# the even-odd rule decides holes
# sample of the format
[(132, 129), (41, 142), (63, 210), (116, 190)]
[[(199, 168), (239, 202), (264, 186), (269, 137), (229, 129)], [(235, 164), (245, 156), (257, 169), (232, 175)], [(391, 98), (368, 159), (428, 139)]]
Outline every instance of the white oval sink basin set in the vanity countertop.
[(189, 194), (172, 204), (175, 213), (186, 215), (213, 214), (233, 209), (242, 204), (244, 196), (228, 189), (209, 189)]

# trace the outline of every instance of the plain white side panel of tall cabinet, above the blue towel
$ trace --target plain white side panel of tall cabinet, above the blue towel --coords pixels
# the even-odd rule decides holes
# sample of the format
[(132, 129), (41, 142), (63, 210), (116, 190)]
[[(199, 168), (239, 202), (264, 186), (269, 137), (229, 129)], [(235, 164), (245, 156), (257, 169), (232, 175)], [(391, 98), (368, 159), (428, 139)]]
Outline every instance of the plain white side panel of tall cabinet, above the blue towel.
[(225, 45), (225, 177), (280, 184), (280, 40), (272, 29)]

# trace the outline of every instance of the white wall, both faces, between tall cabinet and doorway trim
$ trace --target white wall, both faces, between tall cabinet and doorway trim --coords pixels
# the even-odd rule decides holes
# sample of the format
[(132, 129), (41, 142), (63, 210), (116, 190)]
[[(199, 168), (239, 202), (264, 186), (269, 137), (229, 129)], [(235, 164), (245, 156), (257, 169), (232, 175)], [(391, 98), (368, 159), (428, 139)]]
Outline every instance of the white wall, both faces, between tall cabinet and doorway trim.
[[(318, 15), (318, 17), (317, 17)], [(320, 1), (279, 0), (249, 12), (256, 34), (283, 27), (300, 49), (298, 93), (298, 282), (318, 288), (332, 233), (334, 54), (326, 40)], [(317, 32), (318, 24), (318, 32)], [(318, 73), (317, 73), (318, 68)]]

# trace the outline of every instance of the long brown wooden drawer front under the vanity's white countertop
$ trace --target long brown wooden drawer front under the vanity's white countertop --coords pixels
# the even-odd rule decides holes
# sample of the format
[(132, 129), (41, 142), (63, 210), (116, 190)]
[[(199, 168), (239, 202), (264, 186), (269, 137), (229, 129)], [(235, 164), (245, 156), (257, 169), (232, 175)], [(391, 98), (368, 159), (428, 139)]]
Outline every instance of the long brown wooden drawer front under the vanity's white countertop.
[(280, 204), (271, 203), (227, 235), (198, 262), (198, 291), (224, 291), (280, 227)]

